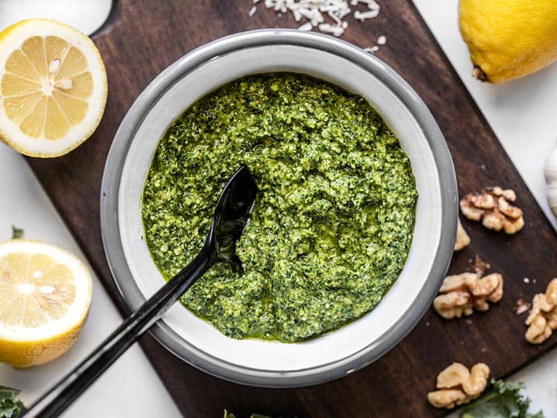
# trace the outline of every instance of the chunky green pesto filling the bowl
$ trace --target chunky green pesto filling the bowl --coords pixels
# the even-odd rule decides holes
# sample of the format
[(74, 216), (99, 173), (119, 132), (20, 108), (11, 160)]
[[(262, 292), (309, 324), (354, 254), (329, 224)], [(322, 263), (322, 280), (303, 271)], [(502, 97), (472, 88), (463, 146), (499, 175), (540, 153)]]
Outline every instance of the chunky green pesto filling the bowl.
[(409, 251), (418, 193), (407, 155), (370, 104), (319, 79), (254, 75), (194, 103), (156, 150), (143, 194), (151, 254), (172, 277), (203, 246), (240, 167), (259, 187), (237, 243), (181, 302), (223, 334), (299, 341), (373, 309)]

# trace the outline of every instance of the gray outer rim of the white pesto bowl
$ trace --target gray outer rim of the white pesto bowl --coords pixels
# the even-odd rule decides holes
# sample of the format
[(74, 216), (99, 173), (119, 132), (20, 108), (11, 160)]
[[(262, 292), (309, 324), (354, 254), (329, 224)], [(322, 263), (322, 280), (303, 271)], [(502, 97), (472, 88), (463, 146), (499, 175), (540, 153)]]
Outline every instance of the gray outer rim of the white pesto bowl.
[[(118, 189), (127, 150), (137, 128), (151, 107), (164, 93), (188, 72), (206, 61), (223, 54), (259, 47), (262, 45), (297, 45), (320, 49), (356, 63), (372, 72), (405, 104), (418, 121), (437, 162), (441, 189), (441, 236), (432, 270), (427, 277), (421, 294), (407, 309), (398, 323), (377, 341), (352, 355), (329, 364), (296, 371), (272, 371), (237, 366), (209, 355), (191, 346), (178, 336), (168, 325), (159, 320), (150, 329), (150, 334), (167, 350), (212, 376), (231, 382), (258, 387), (300, 387), (334, 380), (361, 369), (382, 357), (404, 338), (418, 323), (430, 307), (441, 281), (448, 270), (455, 242), (458, 195), (455, 169), (446, 141), (429, 109), (418, 94), (400, 75), (383, 61), (363, 49), (343, 40), (320, 33), (302, 32), (295, 29), (260, 29), (226, 36), (198, 47), (171, 64), (161, 72), (139, 95), (123, 119), (107, 157), (102, 176), (100, 196), (100, 223), (104, 251), (113, 279), (120, 295), (130, 309), (137, 309), (144, 301), (141, 291), (125, 260), (118, 227)], [(370, 346), (373, 346), (370, 348)]]

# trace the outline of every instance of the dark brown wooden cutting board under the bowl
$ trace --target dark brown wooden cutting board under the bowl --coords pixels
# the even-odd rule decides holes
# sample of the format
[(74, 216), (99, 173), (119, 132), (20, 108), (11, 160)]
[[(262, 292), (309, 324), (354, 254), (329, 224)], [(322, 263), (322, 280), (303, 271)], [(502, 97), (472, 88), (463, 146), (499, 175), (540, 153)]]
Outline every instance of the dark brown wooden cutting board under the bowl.
[[(221, 417), (223, 408), (240, 417), (249, 412), (299, 418), (435, 417), (444, 411), (431, 408), (425, 397), (434, 389), (437, 373), (450, 362), (469, 366), (485, 362), (492, 376), (500, 378), (557, 345), (557, 336), (542, 346), (528, 345), (525, 316), (512, 311), (520, 297), (531, 300), (557, 276), (557, 235), (411, 1), (381, 3), (377, 19), (364, 23), (349, 19), (343, 39), (370, 47), (379, 36), (386, 36), (387, 44), (377, 56), (430, 107), (453, 154), (461, 196), (486, 185), (501, 185), (515, 189), (524, 209), (526, 226), (516, 236), (464, 222), (472, 245), (455, 254), (450, 268), (452, 273), (469, 269), (471, 259), (479, 254), (505, 277), (503, 300), (487, 313), (466, 320), (443, 320), (430, 310), (402, 343), (366, 369), (301, 389), (256, 389), (219, 380), (188, 366), (145, 336), (143, 349), (188, 417)], [(251, 6), (250, 0), (117, 1), (109, 22), (93, 36), (109, 76), (107, 111), (99, 129), (65, 157), (29, 159), (123, 314), (127, 307), (104, 258), (99, 226), (101, 176), (114, 133), (142, 89), (194, 47), (238, 31), (298, 25), (288, 15), (278, 17), (262, 5), (250, 18)], [(535, 138), (524, 142), (525, 152), (526, 147), (536, 146)]]

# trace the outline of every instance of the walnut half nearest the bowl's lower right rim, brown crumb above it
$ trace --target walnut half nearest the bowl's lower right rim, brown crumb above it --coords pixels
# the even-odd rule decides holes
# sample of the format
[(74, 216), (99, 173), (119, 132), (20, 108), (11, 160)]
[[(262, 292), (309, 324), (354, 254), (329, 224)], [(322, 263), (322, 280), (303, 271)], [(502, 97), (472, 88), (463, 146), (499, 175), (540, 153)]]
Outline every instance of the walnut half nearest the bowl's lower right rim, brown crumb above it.
[[(476, 261), (480, 265), (481, 261)], [(447, 276), (439, 289), (439, 296), (433, 300), (433, 307), (445, 319), (468, 316), (474, 309), (487, 311), (489, 303), (496, 303), (503, 297), (503, 276), (492, 273), (483, 276), (488, 264), (476, 268), (475, 273), (464, 272)]]

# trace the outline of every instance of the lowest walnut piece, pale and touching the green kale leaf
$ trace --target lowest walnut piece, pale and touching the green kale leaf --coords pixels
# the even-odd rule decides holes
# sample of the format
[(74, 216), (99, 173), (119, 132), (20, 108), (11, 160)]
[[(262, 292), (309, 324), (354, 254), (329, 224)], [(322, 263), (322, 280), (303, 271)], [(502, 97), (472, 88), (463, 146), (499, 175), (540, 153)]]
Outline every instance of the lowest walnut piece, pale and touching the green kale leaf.
[(489, 367), (478, 363), (468, 370), (464, 364), (453, 363), (437, 376), (437, 389), (427, 394), (435, 408), (455, 408), (476, 399), (487, 386)]

